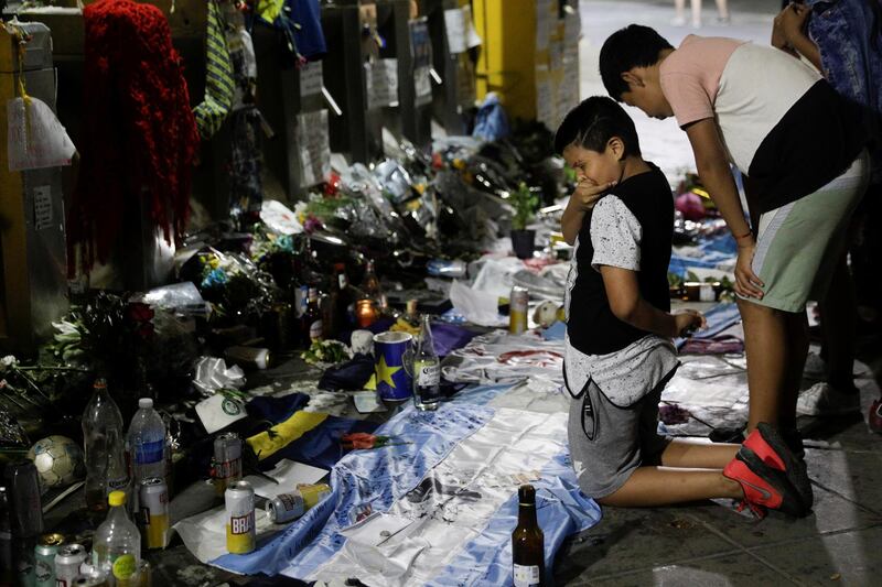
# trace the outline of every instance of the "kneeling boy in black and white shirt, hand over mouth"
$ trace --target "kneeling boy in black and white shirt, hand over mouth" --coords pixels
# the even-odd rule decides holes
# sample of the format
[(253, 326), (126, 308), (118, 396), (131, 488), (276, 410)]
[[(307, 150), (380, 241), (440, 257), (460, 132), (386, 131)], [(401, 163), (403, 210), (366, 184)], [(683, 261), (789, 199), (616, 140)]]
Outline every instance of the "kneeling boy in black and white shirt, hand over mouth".
[(662, 390), (678, 365), (670, 339), (703, 318), (669, 313), (674, 202), (665, 176), (641, 156), (634, 122), (612, 99), (589, 98), (567, 115), (555, 148), (579, 180), (561, 228), (576, 248), (564, 379), (581, 489), (609, 506), (728, 497), (757, 514), (773, 508), (805, 515), (808, 478), (774, 428), (761, 425), (743, 447), (656, 432)]

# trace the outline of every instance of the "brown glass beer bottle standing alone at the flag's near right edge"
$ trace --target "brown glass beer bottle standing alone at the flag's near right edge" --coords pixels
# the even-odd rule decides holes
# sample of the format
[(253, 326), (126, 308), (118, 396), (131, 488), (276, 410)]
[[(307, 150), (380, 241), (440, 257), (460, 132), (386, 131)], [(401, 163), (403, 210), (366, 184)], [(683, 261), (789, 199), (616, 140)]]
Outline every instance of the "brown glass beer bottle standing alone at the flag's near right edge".
[(512, 563), (515, 587), (545, 585), (545, 535), (536, 521), (536, 489), (523, 485), (517, 491), (520, 508), (512, 532)]

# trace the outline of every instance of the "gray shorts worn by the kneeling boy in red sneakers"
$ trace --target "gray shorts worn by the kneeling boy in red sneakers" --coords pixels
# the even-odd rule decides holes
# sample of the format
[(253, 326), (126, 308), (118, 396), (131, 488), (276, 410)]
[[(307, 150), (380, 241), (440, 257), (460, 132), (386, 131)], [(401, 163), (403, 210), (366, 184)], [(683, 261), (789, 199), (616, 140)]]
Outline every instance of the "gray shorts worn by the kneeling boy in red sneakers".
[(567, 435), (579, 488), (594, 499), (615, 493), (637, 467), (658, 465), (670, 438), (658, 434), (658, 402), (673, 370), (632, 405), (612, 403), (589, 380), (584, 389), (568, 390)]

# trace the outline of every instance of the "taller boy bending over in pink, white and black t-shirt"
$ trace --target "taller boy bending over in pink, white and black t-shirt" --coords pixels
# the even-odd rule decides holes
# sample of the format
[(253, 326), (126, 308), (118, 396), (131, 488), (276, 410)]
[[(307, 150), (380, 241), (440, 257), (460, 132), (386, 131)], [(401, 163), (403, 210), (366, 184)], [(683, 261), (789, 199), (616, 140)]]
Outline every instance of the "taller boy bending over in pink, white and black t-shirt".
[[(859, 110), (807, 65), (733, 39), (689, 35), (675, 50), (653, 29), (632, 24), (606, 40), (600, 69), (613, 98), (654, 118), (675, 116), (689, 137), (701, 182), (738, 242), (747, 431), (777, 424), (802, 452), (796, 399), (808, 352), (805, 305), (829, 286), (869, 181)], [(753, 228), (730, 163), (756, 207)]]

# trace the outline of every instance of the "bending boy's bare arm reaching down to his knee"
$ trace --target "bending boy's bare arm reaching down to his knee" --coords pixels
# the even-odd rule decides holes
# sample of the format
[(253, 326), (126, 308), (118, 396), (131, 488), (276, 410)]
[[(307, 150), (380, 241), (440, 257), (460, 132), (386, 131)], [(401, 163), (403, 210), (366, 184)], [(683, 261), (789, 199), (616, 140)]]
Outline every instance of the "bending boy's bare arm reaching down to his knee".
[(760, 289), (763, 283), (751, 268), (756, 241), (744, 219), (744, 208), (741, 206), (741, 198), (732, 171), (729, 169), (729, 160), (717, 123), (712, 118), (706, 118), (688, 124), (685, 130), (692, 144), (698, 176), (738, 242), (735, 293), (760, 298), (763, 296), (763, 291)]

